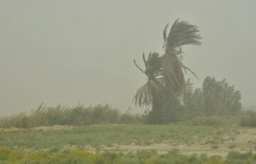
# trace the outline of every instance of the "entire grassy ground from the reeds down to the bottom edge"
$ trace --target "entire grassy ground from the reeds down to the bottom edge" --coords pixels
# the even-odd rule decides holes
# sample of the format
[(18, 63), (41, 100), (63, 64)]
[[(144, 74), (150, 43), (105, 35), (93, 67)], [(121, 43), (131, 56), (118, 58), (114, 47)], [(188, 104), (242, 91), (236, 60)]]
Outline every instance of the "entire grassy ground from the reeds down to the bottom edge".
[[(253, 155), (256, 152), (255, 133), (256, 129), (233, 124), (225, 126), (98, 124), (0, 129), (0, 164), (174, 163), (174, 161), (175, 163), (255, 163), (256, 157)], [(240, 158), (235, 158), (235, 153), (228, 153), (229, 151), (237, 151)], [(250, 151), (252, 151), (250, 154), (244, 153)], [(6, 155), (3, 155), (3, 152), (7, 152)], [(16, 160), (11, 160), (13, 158)], [(225, 158), (226, 160), (223, 160)], [(253, 159), (249, 160), (249, 158)]]

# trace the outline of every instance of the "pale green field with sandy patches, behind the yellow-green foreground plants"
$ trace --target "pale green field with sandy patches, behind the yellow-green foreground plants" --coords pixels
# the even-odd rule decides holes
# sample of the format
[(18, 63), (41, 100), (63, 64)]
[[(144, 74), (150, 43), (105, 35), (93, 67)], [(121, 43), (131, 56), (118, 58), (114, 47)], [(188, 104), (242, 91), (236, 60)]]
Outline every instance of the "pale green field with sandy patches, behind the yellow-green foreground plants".
[[(0, 147), (16, 153), (25, 153), (23, 157), (26, 158), (29, 155), (38, 155), (41, 151), (51, 152), (51, 155), (59, 153), (58, 155), (61, 156), (63, 151), (79, 150), (80, 153), (87, 152), (92, 156), (110, 152), (116, 155), (122, 154), (125, 158), (128, 158), (126, 155), (143, 154), (151, 158), (156, 156), (160, 158), (160, 155), (165, 155), (164, 157), (167, 158), (170, 152), (175, 151), (188, 155), (184, 158), (189, 158), (189, 155), (196, 155), (198, 158), (207, 155), (225, 159), (232, 151), (255, 153), (256, 129), (237, 124), (224, 126), (110, 124), (11, 128), (0, 130)], [(5, 158), (0, 158), (0, 161), (1, 159)]]

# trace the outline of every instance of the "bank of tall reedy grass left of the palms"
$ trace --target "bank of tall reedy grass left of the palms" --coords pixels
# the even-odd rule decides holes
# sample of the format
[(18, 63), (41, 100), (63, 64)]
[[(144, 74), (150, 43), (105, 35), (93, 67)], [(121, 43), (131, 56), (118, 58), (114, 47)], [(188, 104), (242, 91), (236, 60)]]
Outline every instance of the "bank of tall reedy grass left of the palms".
[(6, 116), (0, 120), (0, 128), (31, 128), (36, 126), (70, 125), (84, 126), (91, 124), (141, 124), (142, 116), (121, 114), (110, 105), (97, 106), (78, 105), (73, 108), (68, 106), (50, 106), (41, 104), (37, 109), (28, 114), (20, 113)]

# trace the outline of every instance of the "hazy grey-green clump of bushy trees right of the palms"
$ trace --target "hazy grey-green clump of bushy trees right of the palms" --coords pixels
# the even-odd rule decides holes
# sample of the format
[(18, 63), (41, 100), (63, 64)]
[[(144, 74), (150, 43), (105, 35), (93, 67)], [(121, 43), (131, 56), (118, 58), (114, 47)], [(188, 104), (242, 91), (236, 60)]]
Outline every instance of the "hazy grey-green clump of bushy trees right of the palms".
[(203, 87), (193, 89), (190, 80), (181, 92), (181, 104), (188, 118), (195, 116), (238, 116), (242, 110), (241, 94), (226, 80), (217, 81), (206, 77)]

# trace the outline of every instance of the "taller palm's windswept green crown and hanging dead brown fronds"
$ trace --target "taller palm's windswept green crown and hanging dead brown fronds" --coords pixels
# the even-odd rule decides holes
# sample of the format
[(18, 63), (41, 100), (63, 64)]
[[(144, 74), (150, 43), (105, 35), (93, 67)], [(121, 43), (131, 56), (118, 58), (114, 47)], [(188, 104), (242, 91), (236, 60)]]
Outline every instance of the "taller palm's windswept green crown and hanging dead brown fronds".
[[(181, 46), (200, 45), (201, 36), (198, 35), (198, 27), (186, 21), (178, 21), (177, 19), (167, 36), (168, 26), (169, 24), (166, 25), (163, 31), (165, 53), (162, 58), (162, 67), (166, 89), (169, 90), (169, 93), (175, 95), (181, 92), (185, 86), (183, 70), (185, 72), (186, 70), (191, 71), (181, 62), (182, 58), (179, 56), (183, 53)], [(195, 74), (193, 73), (193, 75)]]

